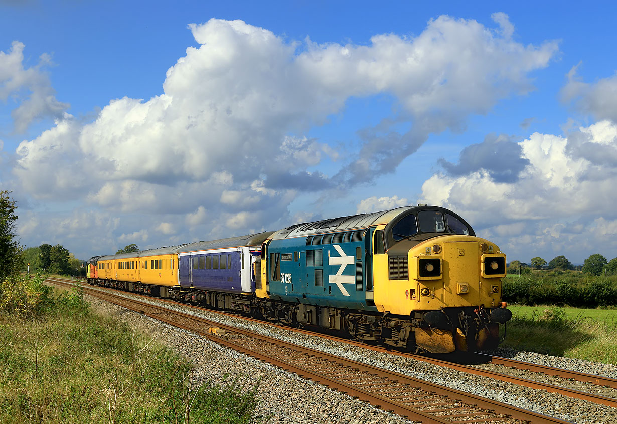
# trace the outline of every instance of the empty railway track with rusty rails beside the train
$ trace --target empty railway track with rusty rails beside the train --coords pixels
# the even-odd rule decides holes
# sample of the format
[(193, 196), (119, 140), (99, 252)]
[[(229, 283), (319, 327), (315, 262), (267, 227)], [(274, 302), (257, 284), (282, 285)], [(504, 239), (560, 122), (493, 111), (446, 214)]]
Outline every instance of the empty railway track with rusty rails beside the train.
[[(59, 280), (51, 282), (70, 285)], [(172, 311), (164, 306), (88, 287), (84, 288), (84, 292), (169, 325), (197, 333), (228, 348), (418, 422), (566, 423), (558, 418), (350, 361), (270, 336)], [(212, 334), (212, 331), (216, 334)]]

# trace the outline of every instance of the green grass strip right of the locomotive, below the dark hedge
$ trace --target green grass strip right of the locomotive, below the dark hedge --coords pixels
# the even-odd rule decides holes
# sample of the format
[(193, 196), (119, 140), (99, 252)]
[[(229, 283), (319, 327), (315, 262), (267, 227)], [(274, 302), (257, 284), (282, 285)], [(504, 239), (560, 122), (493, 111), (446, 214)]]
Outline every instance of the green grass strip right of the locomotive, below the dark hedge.
[(617, 311), (614, 309), (508, 306), (504, 348), (617, 363)]

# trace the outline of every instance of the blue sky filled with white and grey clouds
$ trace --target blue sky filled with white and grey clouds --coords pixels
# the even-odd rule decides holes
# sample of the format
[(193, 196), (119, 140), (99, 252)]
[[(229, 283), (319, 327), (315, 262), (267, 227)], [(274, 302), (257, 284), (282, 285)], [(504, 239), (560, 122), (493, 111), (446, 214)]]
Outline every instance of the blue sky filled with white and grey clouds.
[[(0, 0), (0, 190), (77, 258), (428, 203), (617, 256), (617, 6)], [(514, 3), (514, 2), (512, 2)]]

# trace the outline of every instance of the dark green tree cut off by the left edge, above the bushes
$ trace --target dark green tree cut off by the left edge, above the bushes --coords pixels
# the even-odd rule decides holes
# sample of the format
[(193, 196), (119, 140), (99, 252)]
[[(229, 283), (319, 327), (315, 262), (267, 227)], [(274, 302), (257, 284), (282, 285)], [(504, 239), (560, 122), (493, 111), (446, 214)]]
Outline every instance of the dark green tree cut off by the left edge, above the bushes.
[(12, 192), (0, 191), (0, 282), (17, 273), (22, 264), (22, 247), (15, 240), (17, 206), (9, 197), (10, 193)]

